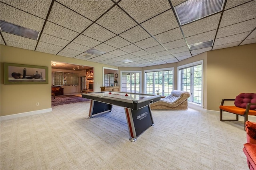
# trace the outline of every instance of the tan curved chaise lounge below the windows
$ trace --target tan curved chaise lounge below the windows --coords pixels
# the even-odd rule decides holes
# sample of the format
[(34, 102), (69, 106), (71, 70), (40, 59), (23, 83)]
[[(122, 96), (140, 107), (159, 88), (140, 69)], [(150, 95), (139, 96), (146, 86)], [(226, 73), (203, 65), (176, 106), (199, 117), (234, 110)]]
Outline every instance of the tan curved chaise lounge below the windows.
[(151, 110), (187, 110), (188, 97), (190, 97), (189, 92), (174, 90), (160, 101), (152, 103), (150, 108)]

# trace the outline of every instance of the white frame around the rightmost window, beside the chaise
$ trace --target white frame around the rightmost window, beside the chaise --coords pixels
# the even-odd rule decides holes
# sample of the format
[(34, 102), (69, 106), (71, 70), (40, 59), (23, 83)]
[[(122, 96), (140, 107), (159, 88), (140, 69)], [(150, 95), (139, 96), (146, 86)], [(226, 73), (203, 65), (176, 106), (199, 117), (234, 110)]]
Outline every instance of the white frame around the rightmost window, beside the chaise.
[(193, 63), (188, 63), (188, 64), (185, 64), (185, 65), (180, 65), (177, 67), (177, 77), (178, 77), (178, 82), (177, 82), (177, 85), (178, 85), (178, 90), (181, 90), (182, 89), (182, 75), (181, 75), (181, 71), (180, 69), (184, 69), (186, 67), (193, 67), (195, 65), (202, 65), (202, 103), (201, 104), (196, 104), (194, 102), (189, 102), (189, 103), (193, 103), (193, 104), (196, 104), (196, 105), (200, 105), (200, 106), (203, 106), (203, 102), (204, 102), (204, 60), (199, 60), (199, 61), (195, 61)]

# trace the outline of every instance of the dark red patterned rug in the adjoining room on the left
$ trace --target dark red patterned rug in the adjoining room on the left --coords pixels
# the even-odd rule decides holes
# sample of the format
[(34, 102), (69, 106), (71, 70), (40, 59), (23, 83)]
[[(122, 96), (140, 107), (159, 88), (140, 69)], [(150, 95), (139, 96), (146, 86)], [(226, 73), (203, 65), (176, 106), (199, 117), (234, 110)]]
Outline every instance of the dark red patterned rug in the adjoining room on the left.
[(65, 105), (70, 103), (77, 103), (81, 101), (89, 101), (89, 99), (82, 98), (76, 95), (64, 95), (56, 96), (55, 99), (52, 97), (52, 106)]

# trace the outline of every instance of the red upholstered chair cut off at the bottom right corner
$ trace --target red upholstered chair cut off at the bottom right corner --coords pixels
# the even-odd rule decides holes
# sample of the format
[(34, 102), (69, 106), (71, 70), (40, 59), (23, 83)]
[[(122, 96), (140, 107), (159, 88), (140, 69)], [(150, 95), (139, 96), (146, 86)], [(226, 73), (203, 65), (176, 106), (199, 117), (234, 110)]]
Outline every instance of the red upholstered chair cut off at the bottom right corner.
[(246, 121), (245, 123), (247, 143), (244, 144), (244, 154), (250, 170), (256, 170), (256, 123)]

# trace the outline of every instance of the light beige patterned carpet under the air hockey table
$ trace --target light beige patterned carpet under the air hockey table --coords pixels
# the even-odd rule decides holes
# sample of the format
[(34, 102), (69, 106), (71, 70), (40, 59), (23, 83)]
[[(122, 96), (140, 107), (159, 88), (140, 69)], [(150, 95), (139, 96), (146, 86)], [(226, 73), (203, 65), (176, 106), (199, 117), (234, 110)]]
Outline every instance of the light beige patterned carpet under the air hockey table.
[(1, 170), (247, 170), (242, 122), (152, 111), (155, 125), (129, 141), (122, 107), (87, 119), (90, 101), (1, 122)]

